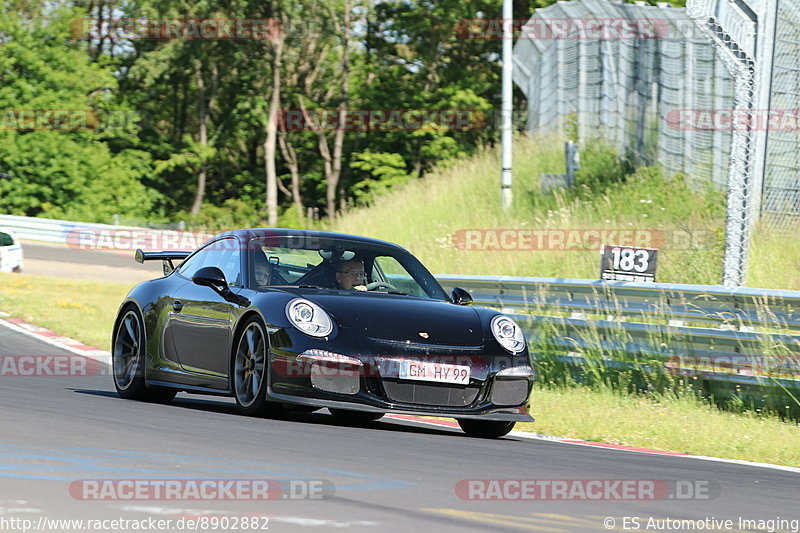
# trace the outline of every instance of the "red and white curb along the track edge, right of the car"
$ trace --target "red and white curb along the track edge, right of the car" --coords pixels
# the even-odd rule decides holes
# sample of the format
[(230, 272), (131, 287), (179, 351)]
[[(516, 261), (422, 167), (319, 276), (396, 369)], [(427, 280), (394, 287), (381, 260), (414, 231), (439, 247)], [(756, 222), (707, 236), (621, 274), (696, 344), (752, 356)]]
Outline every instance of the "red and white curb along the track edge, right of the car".
[[(458, 429), (458, 422), (454, 420), (436, 420), (431, 418), (422, 418), (412, 415), (395, 415), (387, 414), (386, 418), (402, 420), (405, 422), (414, 422), (426, 426), (446, 427)], [(782, 470), (784, 472), (793, 472), (800, 474), (800, 468), (793, 466), (773, 465), (770, 463), (756, 463), (752, 461), (744, 461), (741, 459), (724, 459), (722, 457), (707, 457), (705, 455), (691, 455), (680, 452), (669, 452), (666, 450), (653, 450), (650, 448), (639, 448), (637, 446), (624, 446), (622, 444), (609, 444), (607, 442), (594, 442), (581, 439), (571, 439), (567, 437), (555, 437), (553, 435), (542, 435), (539, 433), (529, 433), (527, 431), (512, 431), (508, 434), (509, 437), (517, 437), (520, 439), (531, 440), (544, 440), (548, 442), (556, 442), (559, 444), (572, 444), (577, 446), (587, 446), (591, 448), (600, 448), (605, 450), (614, 450), (622, 452), (646, 453), (650, 455), (661, 455), (668, 457), (679, 457), (681, 459), (699, 459), (701, 461), (713, 461), (717, 463), (730, 463), (741, 466), (752, 466), (756, 468), (768, 468), (771, 470)]]

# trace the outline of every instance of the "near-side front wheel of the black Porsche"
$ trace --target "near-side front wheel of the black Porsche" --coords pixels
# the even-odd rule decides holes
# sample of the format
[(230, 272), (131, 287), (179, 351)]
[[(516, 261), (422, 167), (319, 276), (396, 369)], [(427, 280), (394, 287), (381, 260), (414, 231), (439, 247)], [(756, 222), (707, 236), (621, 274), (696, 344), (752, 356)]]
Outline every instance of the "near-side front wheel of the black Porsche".
[(236, 406), (243, 415), (278, 415), (278, 403), (268, 402), (269, 341), (261, 318), (252, 316), (244, 323), (231, 355), (231, 390)]

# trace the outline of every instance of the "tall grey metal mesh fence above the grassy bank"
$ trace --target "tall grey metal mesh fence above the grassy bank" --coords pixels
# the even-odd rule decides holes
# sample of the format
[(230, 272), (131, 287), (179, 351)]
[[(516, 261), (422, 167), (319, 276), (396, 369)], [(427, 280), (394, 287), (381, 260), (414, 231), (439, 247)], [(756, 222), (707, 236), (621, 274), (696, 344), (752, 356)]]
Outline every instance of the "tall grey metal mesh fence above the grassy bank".
[[(800, 222), (791, 121), (800, 109), (800, 4), (688, 6), (576, 0), (538, 9), (514, 48), (514, 81), (528, 98), (529, 130), (574, 127), (579, 142), (599, 137), (635, 163), (727, 189), (723, 281), (736, 286), (758, 217), (773, 227)], [(598, 26), (628, 31), (587, 31)]]

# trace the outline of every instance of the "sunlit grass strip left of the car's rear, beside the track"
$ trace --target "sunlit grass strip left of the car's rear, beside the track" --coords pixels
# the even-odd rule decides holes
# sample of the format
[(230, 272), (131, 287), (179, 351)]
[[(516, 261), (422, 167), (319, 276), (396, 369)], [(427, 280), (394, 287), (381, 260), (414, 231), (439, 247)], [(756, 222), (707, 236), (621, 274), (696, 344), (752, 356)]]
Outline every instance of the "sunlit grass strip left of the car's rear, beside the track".
[(0, 311), (103, 350), (133, 284), (0, 274)]

